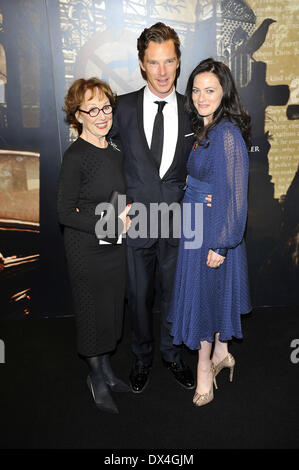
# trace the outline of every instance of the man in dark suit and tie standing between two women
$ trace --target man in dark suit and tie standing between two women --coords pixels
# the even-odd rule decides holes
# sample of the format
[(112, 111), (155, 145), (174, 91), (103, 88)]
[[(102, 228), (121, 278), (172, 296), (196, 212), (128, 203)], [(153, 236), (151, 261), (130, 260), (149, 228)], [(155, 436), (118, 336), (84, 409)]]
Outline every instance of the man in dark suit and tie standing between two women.
[[(147, 208), (149, 221), (151, 203), (171, 205), (181, 201), (194, 138), (184, 112), (184, 98), (175, 91), (181, 55), (176, 32), (157, 23), (142, 32), (137, 49), (147, 85), (119, 97), (114, 125), (124, 150), (127, 194)], [(157, 234), (150, 233), (153, 228), (147, 224), (145, 235), (127, 236), (128, 309), (136, 358), (130, 382), (135, 393), (147, 385), (153, 360), (156, 263), (161, 287), (162, 361), (183, 387), (194, 388), (192, 372), (181, 359), (181, 348), (173, 345), (167, 322), (179, 240), (172, 236), (171, 229), (169, 237), (163, 237), (161, 223)]]

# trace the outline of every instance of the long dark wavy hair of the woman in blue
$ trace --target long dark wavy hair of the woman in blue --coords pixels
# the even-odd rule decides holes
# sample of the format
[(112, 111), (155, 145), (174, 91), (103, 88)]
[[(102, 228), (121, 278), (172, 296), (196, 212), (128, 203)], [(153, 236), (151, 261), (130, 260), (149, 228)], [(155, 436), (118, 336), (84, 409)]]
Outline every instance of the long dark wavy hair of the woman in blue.
[[(192, 100), (194, 79), (203, 72), (214, 73), (223, 90), (221, 103), (214, 112), (212, 123), (208, 126), (204, 125), (203, 117), (198, 113)], [(241, 103), (231, 71), (223, 62), (217, 62), (209, 58), (203, 60), (195, 67), (187, 83), (185, 108), (187, 113), (191, 116), (193, 131), (199, 143), (202, 141), (203, 137), (205, 137), (208, 145), (209, 131), (215, 127), (223, 117), (227, 117), (239, 127), (247, 147), (250, 145), (250, 116)]]

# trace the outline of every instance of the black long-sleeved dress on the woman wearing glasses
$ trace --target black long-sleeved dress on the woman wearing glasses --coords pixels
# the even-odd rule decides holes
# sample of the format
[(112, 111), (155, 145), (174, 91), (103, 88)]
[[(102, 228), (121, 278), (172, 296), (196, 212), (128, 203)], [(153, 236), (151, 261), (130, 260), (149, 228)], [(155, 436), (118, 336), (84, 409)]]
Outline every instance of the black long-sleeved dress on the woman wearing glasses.
[(125, 193), (121, 151), (112, 143), (101, 149), (79, 137), (63, 156), (57, 208), (83, 356), (112, 351), (121, 335), (125, 246), (100, 245), (95, 234), (95, 208), (113, 190)]

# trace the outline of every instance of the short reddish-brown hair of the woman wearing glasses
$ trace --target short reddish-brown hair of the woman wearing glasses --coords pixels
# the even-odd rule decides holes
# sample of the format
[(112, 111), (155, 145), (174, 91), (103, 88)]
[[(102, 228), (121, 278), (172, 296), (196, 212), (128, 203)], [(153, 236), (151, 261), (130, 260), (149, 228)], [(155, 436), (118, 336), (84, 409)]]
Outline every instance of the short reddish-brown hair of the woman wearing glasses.
[(77, 120), (76, 112), (84, 100), (85, 92), (87, 90), (91, 90), (91, 97), (93, 97), (97, 89), (100, 93), (103, 93), (107, 96), (112, 109), (114, 110), (116, 108), (116, 95), (112, 92), (108, 83), (100, 80), (99, 78), (92, 77), (88, 80), (79, 78), (78, 80), (74, 81), (67, 92), (64, 100), (63, 111), (66, 114), (66, 122), (73, 126), (77, 130), (78, 134), (81, 134), (82, 132), (82, 124)]

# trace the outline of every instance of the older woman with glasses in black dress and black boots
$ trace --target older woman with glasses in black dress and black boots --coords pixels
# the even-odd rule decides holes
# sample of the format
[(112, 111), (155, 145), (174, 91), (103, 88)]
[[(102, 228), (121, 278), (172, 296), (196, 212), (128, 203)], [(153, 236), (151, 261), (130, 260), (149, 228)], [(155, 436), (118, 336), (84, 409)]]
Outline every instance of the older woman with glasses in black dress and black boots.
[(87, 384), (98, 408), (117, 413), (110, 391), (129, 391), (115, 377), (109, 356), (121, 335), (125, 291), (125, 247), (115, 243), (128, 230), (129, 207), (119, 215), (113, 243), (95, 233), (99, 203), (112, 191), (125, 193), (123, 156), (107, 138), (116, 97), (109, 85), (76, 80), (65, 98), (67, 120), (79, 134), (66, 150), (59, 178), (58, 217), (72, 287), (79, 354), (90, 373)]

